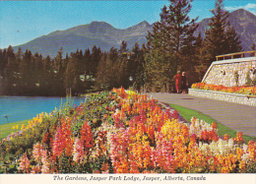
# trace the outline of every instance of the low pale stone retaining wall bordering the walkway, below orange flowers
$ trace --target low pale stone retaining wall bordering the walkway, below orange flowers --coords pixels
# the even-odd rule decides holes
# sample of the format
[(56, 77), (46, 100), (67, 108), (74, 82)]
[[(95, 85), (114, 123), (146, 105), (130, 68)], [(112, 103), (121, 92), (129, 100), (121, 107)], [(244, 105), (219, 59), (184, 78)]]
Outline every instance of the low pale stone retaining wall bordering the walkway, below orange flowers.
[(199, 97), (207, 97), (207, 98), (240, 103), (245, 105), (251, 105), (256, 107), (256, 98), (247, 97), (248, 95), (246, 94), (203, 91), (203, 90), (196, 90), (196, 89), (189, 89), (188, 93), (191, 95), (199, 96)]

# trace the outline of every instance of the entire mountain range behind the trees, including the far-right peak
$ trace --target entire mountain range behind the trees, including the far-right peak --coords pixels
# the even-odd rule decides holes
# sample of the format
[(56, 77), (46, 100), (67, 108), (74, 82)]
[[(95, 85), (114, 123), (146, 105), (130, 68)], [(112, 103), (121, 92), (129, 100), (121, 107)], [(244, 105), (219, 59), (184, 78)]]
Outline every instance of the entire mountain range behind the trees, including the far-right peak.
[[(253, 43), (256, 43), (256, 16), (246, 10), (239, 9), (229, 14), (230, 25), (240, 34), (243, 49), (251, 50)], [(204, 32), (208, 28), (210, 19), (204, 19), (199, 22), (199, 31)], [(128, 29), (115, 29), (105, 22), (92, 22), (88, 25), (82, 25), (68, 29), (66, 31), (53, 31), (47, 35), (42, 35), (25, 44), (14, 46), (15, 51), (21, 47), (23, 51), (32, 50), (32, 53), (41, 53), (44, 57), (50, 55), (56, 56), (60, 47), (64, 53), (70, 53), (77, 49), (85, 50), (94, 45), (99, 46), (101, 50), (109, 50), (111, 46), (119, 48), (122, 40), (127, 41), (128, 48), (131, 49), (137, 41), (140, 45), (146, 43), (148, 31), (152, 31), (153, 25), (144, 21)]]

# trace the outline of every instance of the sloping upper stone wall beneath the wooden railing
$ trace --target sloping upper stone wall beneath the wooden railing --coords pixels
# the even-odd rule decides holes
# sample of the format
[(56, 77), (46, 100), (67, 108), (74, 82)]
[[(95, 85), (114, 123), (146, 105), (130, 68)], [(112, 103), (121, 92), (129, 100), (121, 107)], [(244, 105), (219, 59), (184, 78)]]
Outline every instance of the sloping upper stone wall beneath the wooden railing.
[[(247, 72), (250, 72), (250, 78), (256, 77), (256, 57), (229, 59), (223, 61), (215, 61), (208, 69), (202, 82), (213, 85), (223, 85), (225, 87), (243, 86), (246, 83)], [(237, 80), (235, 72), (237, 71)]]

